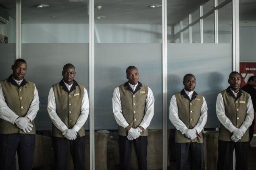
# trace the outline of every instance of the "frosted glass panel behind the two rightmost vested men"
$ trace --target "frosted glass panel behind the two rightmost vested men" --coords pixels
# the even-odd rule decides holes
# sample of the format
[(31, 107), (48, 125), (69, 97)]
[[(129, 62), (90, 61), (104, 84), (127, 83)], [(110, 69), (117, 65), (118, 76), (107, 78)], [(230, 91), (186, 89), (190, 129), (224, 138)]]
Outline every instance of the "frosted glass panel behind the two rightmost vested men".
[[(173, 94), (184, 88), (183, 76), (194, 74), (195, 91), (205, 97), (208, 105), (206, 127), (219, 127), (216, 98), (229, 86), (227, 79), (231, 71), (231, 44), (168, 44), (168, 106)], [(170, 121), (168, 128), (174, 128)]]

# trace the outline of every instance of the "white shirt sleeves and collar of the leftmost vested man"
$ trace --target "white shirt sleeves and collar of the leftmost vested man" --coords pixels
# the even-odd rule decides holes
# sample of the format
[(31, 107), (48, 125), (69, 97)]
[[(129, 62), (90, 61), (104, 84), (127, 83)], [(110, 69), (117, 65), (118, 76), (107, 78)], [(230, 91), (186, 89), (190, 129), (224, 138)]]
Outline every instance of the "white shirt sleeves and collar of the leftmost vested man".
[[(23, 80), (19, 80), (20, 83), (22, 81)], [(15, 82), (17, 82), (18, 84), (18, 80), (15, 80)], [(29, 110), (27, 111), (26, 117), (28, 117), (31, 121), (33, 121), (35, 119), (35, 116), (38, 110), (39, 110), (39, 97), (38, 97), (38, 91), (35, 87), (33, 100), (30, 104)], [(16, 115), (6, 104), (1, 84), (0, 84), (0, 118), (12, 124), (14, 124), (15, 120), (19, 118), (19, 116)]]

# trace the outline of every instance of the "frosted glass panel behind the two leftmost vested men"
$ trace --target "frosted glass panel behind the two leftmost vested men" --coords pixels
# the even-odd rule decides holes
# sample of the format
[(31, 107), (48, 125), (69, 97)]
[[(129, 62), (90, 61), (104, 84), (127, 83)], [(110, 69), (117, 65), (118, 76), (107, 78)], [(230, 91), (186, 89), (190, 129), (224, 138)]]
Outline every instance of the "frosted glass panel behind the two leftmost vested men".
[[(75, 80), (85, 86), (89, 95), (89, 44), (22, 44), (21, 47), (23, 59), (27, 61), (25, 78), (35, 83), (39, 94), (36, 129), (52, 129), (47, 111), (48, 94), (51, 86), (62, 79), (61, 72), (66, 63), (75, 66)], [(89, 119), (85, 128), (89, 129)]]

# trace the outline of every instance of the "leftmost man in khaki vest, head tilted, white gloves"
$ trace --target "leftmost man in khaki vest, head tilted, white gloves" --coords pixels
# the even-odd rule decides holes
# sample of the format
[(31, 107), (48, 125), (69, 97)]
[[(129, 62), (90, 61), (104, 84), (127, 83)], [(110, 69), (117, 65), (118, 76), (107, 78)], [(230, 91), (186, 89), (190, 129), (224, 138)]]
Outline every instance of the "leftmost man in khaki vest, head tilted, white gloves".
[(35, 148), (34, 119), (39, 110), (38, 92), (25, 80), (27, 63), (17, 59), (12, 75), (0, 81), (0, 169), (11, 170), (17, 151), (19, 170), (32, 170)]

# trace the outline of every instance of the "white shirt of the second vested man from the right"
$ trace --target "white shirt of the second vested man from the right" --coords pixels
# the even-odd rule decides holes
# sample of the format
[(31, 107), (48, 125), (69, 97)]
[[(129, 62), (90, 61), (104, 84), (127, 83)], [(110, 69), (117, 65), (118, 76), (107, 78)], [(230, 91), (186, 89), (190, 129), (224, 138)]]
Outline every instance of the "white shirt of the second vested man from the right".
[[(191, 92), (188, 92), (186, 90), (184, 90), (184, 91), (187, 94), (187, 96), (189, 97), (189, 99), (191, 99), (194, 90)], [(169, 119), (170, 119), (171, 123), (173, 123), (174, 127), (177, 130), (181, 131), (181, 133), (184, 134), (188, 128), (183, 123), (183, 121), (181, 121), (181, 119), (179, 119), (179, 110), (178, 110), (177, 100), (176, 100), (175, 95), (173, 95), (171, 98), (169, 110), (170, 110)], [(207, 104), (206, 104), (205, 98), (203, 96), (203, 104), (202, 104), (201, 111), (200, 111), (200, 118), (198, 120), (198, 123), (193, 128), (197, 131), (197, 133), (200, 133), (204, 129), (204, 126), (207, 121), (207, 110), (208, 110)]]

